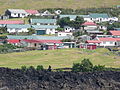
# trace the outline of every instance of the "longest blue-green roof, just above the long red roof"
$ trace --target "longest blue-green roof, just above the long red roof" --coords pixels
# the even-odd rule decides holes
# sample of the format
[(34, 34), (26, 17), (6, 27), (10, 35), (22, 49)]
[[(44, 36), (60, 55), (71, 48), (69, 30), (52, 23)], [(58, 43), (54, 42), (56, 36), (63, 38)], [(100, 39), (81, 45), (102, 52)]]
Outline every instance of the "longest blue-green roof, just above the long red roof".
[(8, 39), (35, 39), (35, 40), (62, 40), (62, 39), (73, 39), (73, 37), (70, 36), (13, 36), (13, 35), (8, 35)]

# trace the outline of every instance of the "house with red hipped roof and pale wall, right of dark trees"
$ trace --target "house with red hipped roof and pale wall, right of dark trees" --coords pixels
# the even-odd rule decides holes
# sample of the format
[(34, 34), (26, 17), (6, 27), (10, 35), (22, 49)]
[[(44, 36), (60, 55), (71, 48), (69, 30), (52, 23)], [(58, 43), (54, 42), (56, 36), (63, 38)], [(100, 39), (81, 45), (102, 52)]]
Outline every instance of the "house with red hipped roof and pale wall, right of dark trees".
[(98, 25), (94, 22), (85, 22), (82, 25), (84, 30), (95, 30), (98, 28)]

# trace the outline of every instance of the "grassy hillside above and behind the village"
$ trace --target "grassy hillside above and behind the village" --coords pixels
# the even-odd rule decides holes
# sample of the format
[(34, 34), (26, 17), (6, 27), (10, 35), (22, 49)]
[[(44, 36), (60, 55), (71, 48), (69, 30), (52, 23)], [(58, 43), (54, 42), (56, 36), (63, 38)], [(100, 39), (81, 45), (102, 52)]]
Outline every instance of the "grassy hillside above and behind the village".
[(0, 0), (0, 13), (7, 8), (89, 8), (120, 5), (120, 0)]

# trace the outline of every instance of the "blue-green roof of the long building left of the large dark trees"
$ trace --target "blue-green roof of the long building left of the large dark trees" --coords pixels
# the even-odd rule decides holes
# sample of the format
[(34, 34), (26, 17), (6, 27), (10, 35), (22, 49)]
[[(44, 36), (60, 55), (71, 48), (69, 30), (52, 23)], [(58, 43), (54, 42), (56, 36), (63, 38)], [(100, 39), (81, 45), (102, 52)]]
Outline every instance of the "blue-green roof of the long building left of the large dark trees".
[(31, 19), (31, 23), (56, 23), (56, 19)]

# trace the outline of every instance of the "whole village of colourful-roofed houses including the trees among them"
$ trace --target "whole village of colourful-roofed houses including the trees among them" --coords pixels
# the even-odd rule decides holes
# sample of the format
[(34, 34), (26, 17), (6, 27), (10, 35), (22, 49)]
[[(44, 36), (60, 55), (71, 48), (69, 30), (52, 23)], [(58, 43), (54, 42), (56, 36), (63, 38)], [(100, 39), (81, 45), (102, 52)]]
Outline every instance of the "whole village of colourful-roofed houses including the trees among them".
[[(1, 44), (7, 41), (8, 44), (35, 50), (120, 47), (119, 17), (108, 13), (70, 15), (61, 12), (7, 9), (0, 17), (0, 33), (7, 33), (7, 38), (0, 40)], [(23, 20), (26, 17), (29, 18)], [(115, 24), (118, 27), (114, 27)]]

